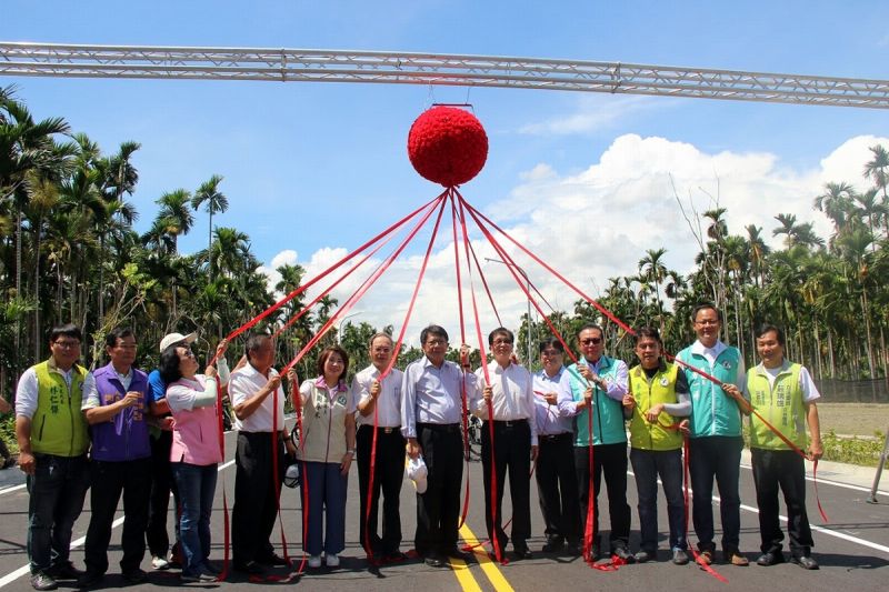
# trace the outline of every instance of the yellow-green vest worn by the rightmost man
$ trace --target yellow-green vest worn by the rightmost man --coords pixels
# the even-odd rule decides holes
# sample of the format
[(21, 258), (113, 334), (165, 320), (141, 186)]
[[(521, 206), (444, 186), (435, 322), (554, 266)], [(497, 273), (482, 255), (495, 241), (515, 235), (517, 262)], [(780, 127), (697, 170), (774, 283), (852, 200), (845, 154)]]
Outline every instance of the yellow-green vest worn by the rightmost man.
[[(747, 392), (750, 404), (788, 440), (800, 449), (806, 448), (806, 405), (799, 388), (799, 371), (802, 367), (785, 360), (783, 367), (769, 384), (762, 364), (747, 371)], [(769, 430), (756, 415), (750, 415), (750, 448), (790, 450), (778, 435)]]

